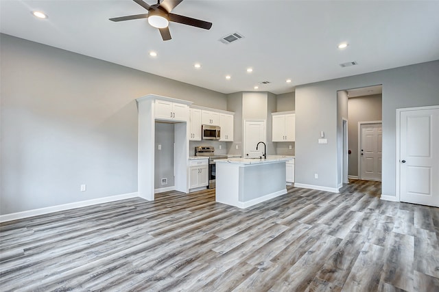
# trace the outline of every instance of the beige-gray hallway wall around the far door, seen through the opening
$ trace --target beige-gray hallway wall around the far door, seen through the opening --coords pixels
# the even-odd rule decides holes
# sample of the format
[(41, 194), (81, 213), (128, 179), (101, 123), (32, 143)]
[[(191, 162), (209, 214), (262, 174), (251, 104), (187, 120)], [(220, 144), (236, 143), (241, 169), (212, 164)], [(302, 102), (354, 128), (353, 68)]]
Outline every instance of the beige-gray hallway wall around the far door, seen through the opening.
[(381, 120), (381, 94), (358, 96), (348, 100), (348, 174), (358, 176), (358, 122)]

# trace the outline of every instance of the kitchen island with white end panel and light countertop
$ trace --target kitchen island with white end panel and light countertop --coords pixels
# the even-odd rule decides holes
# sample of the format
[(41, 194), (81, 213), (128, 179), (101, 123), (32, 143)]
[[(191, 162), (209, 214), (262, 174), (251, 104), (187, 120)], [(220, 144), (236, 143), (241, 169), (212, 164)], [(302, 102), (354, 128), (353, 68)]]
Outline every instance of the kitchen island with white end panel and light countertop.
[(241, 209), (287, 193), (285, 157), (216, 161), (216, 201)]

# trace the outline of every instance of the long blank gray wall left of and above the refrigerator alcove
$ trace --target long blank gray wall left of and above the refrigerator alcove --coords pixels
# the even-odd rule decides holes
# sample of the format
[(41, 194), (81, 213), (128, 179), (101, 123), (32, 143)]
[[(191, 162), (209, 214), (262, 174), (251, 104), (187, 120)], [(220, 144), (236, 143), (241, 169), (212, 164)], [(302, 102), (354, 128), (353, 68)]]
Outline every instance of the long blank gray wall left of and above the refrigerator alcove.
[(0, 38), (1, 215), (137, 191), (135, 98), (227, 107), (225, 94)]

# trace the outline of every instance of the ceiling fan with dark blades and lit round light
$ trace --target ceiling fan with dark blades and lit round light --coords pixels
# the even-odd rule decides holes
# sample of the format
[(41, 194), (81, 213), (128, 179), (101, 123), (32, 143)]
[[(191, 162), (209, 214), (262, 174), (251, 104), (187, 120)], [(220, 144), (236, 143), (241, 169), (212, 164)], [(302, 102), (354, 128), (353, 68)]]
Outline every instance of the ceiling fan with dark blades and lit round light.
[(171, 33), (169, 32), (168, 27), (169, 21), (191, 25), (193, 27), (200, 27), (202, 29), (211, 29), (212, 27), (212, 23), (207, 21), (200, 21), (200, 19), (171, 13), (171, 10), (176, 8), (176, 6), (183, 0), (163, 0), (162, 3), (160, 3), (160, 0), (157, 0), (157, 4), (154, 5), (149, 5), (143, 0), (133, 1), (148, 10), (148, 13), (110, 18), (110, 21), (130, 21), (132, 19), (148, 18), (148, 23), (150, 23), (151, 26), (158, 28), (163, 40), (171, 39)]

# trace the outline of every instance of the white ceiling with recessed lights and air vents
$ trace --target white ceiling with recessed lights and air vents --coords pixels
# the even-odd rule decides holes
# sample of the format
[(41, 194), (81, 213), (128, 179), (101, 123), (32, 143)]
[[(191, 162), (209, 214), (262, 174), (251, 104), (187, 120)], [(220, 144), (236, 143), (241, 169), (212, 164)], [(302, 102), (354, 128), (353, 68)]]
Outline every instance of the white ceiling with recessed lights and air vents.
[[(37, 19), (32, 10), (49, 18)], [(132, 0), (0, 0), (0, 29), (225, 94), (254, 91), (261, 81), (271, 83), (260, 91), (281, 94), (300, 84), (439, 59), (439, 1), (185, 0), (172, 12), (213, 26), (171, 23), (172, 40), (164, 42), (146, 19), (108, 21), (146, 13)], [(245, 38), (219, 42), (234, 32)], [(337, 49), (341, 42), (349, 46)], [(351, 61), (358, 65), (339, 65)], [(195, 62), (202, 68), (193, 68)]]

